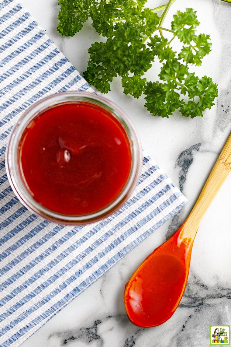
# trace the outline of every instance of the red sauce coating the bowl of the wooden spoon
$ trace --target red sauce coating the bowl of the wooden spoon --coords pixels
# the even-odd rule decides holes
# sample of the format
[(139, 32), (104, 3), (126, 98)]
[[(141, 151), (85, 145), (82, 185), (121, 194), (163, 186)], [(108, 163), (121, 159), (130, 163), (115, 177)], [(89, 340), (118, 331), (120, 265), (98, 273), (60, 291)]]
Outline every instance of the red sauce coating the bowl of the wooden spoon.
[(186, 287), (191, 252), (192, 239), (182, 239), (179, 229), (133, 273), (124, 293), (132, 323), (154, 327), (172, 316)]

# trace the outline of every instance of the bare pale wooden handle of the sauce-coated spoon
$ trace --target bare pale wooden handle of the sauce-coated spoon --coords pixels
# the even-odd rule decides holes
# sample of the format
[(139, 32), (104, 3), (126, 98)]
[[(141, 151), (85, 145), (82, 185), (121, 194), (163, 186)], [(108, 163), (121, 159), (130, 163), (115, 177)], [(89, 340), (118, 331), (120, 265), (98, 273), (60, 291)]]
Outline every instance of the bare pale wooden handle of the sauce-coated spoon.
[(227, 142), (225, 143), (221, 154), (219, 155), (208, 179), (201, 191), (192, 211), (188, 215), (188, 218), (184, 222), (182, 229), (182, 238), (192, 237), (194, 238), (205, 214), (208, 206), (213, 201), (216, 193), (221, 188), (224, 180), (229, 175), (231, 171), (231, 135), (229, 136)]

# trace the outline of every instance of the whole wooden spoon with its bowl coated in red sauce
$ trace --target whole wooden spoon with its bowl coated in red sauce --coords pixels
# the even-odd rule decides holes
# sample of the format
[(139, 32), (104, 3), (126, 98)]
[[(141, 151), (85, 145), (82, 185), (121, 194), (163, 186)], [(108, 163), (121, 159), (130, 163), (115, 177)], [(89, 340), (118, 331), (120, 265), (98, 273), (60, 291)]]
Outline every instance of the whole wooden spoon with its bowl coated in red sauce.
[(231, 135), (186, 221), (141, 263), (126, 284), (124, 303), (133, 324), (155, 327), (175, 312), (186, 287), (199, 223), (230, 170)]

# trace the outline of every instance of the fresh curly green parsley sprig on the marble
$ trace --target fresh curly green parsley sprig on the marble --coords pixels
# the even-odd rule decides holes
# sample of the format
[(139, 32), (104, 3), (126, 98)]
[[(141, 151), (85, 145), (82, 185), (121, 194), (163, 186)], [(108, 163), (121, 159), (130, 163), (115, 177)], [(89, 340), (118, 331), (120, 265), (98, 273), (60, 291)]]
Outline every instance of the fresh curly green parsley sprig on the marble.
[[(144, 95), (144, 106), (153, 116), (168, 118), (179, 110), (185, 117), (202, 117), (214, 105), (217, 84), (207, 76), (200, 79), (189, 68), (200, 66), (211, 51), (210, 36), (196, 34), (199, 22), (192, 8), (177, 11), (171, 28), (165, 28), (164, 19), (174, 1), (150, 9), (144, 6), (146, 0), (60, 0), (58, 30), (72, 36), (90, 17), (95, 30), (107, 37), (106, 42), (89, 48), (84, 73), (100, 92), (107, 93), (113, 78), (120, 76), (124, 93), (135, 98)], [(164, 11), (159, 17), (160, 10)], [(178, 53), (172, 48), (175, 39), (182, 43)], [(155, 60), (162, 63), (159, 81), (147, 81), (144, 75)]]

